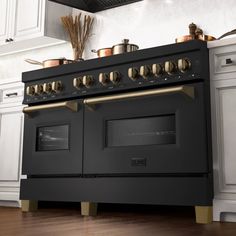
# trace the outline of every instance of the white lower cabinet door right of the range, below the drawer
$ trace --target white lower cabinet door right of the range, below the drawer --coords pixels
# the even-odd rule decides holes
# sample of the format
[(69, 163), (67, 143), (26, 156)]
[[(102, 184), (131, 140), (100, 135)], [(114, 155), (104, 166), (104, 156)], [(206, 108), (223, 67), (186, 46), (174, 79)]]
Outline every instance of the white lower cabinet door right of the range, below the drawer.
[(236, 193), (236, 79), (212, 83), (215, 194)]

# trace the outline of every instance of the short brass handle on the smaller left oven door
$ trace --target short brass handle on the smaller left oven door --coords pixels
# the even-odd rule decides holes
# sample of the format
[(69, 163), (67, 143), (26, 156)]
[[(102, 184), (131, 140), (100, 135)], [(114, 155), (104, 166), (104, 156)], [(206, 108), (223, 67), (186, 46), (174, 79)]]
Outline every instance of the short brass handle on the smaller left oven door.
[(66, 101), (66, 102), (57, 102), (45, 105), (36, 105), (30, 107), (24, 107), (23, 112), (26, 114), (41, 111), (41, 110), (48, 110), (54, 108), (68, 108), (71, 111), (77, 112), (78, 111), (78, 102), (77, 101)]

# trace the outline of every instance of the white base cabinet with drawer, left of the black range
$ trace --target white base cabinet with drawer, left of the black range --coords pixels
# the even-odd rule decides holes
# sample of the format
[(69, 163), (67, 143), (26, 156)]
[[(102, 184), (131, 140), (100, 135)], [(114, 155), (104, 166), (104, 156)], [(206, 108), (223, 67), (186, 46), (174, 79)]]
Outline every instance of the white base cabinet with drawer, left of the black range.
[(20, 205), (22, 99), (22, 83), (0, 81), (0, 205)]

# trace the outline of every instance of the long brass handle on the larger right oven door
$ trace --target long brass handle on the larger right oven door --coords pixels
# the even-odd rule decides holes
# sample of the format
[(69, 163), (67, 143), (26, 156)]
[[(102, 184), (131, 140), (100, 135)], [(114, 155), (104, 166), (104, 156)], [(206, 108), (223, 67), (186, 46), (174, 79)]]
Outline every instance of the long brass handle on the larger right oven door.
[(108, 96), (101, 96), (95, 98), (88, 98), (84, 99), (84, 104), (86, 105), (95, 105), (104, 102), (111, 102), (111, 101), (120, 101), (129, 98), (139, 98), (139, 97), (146, 97), (146, 96), (153, 96), (153, 95), (169, 95), (174, 93), (183, 93), (190, 98), (194, 99), (194, 87), (181, 85), (176, 87), (169, 87), (169, 88), (161, 88), (161, 89), (151, 89), (141, 92), (129, 92), (124, 94), (117, 94), (117, 95), (108, 95)]

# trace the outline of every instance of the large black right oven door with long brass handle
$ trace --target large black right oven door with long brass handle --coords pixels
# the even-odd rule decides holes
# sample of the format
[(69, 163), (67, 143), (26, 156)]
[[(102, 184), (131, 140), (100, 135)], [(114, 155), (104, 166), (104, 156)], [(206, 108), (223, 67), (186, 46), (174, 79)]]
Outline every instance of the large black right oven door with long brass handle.
[(84, 103), (85, 174), (208, 172), (202, 83)]

